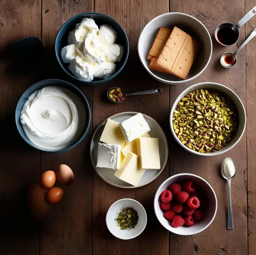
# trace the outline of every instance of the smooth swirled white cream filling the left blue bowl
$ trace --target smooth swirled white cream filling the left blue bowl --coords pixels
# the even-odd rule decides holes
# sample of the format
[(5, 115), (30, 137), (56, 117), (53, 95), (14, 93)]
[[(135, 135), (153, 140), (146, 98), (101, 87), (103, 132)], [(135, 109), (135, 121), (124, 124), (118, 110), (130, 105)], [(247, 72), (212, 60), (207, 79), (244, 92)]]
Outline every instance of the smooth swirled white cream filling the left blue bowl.
[(63, 87), (49, 86), (29, 97), (20, 122), (33, 144), (48, 150), (60, 150), (82, 135), (86, 118), (86, 109), (77, 95)]

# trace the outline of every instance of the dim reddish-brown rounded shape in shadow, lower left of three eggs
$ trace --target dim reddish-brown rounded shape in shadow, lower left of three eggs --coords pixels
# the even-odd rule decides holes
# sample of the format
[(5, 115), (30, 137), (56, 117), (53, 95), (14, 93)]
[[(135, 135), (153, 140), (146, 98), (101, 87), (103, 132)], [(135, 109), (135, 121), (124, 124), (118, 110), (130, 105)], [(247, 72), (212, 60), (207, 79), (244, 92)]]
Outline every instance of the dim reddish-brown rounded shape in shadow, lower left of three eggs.
[(42, 220), (50, 209), (50, 205), (44, 201), (44, 195), (47, 190), (42, 189), (39, 183), (34, 183), (28, 190), (28, 206), (31, 215), (35, 220)]

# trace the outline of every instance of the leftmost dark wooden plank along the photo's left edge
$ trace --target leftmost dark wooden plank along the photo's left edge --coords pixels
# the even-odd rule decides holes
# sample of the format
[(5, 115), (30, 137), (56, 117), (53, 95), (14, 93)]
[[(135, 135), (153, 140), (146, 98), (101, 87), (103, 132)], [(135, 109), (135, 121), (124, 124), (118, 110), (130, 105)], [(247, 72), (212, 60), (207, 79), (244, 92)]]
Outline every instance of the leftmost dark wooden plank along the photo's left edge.
[(18, 134), (14, 113), (24, 90), (37, 81), (39, 66), (15, 60), (10, 46), (23, 37), (40, 37), (41, 1), (2, 0), (0, 10), (0, 253), (37, 254), (38, 228), (27, 212), (26, 190), (39, 177), (40, 153)]

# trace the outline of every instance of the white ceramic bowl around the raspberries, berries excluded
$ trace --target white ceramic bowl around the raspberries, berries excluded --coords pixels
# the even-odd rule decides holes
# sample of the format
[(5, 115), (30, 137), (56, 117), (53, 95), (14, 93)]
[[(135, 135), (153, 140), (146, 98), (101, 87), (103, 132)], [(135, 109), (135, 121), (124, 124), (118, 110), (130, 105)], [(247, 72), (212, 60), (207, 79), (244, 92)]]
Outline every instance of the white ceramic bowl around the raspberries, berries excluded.
[[(205, 192), (207, 195), (207, 201), (208, 201), (208, 208), (207, 212), (205, 214), (205, 217), (203, 220), (199, 222), (195, 222), (193, 226), (191, 227), (178, 227), (174, 228), (171, 225), (171, 222), (166, 220), (166, 218), (163, 217), (163, 211), (160, 208), (160, 194), (164, 190), (168, 189), (168, 186), (171, 183), (177, 183), (179, 181), (184, 181), (184, 180), (191, 180), (194, 181), (201, 187), (201, 189)], [(200, 207), (199, 207), (200, 208)], [(215, 195), (215, 192), (211, 185), (207, 183), (203, 178), (195, 175), (195, 174), (175, 174), (172, 177), (166, 179), (157, 189), (157, 192), (154, 196), (154, 212), (157, 216), (157, 219), (159, 222), (165, 227), (168, 231), (177, 234), (177, 235), (194, 235), (197, 233), (202, 232), (205, 230), (207, 227), (210, 226), (212, 221), (215, 218), (216, 212), (217, 212), (217, 198)]]

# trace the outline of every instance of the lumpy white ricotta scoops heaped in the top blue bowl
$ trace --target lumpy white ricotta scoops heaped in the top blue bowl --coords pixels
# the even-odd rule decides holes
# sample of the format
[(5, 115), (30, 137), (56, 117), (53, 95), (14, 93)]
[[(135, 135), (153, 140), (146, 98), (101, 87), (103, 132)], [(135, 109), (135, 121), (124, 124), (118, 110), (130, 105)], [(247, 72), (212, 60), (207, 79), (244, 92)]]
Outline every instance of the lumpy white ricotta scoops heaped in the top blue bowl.
[(111, 26), (97, 26), (91, 18), (84, 18), (68, 35), (68, 45), (61, 50), (64, 63), (81, 81), (106, 79), (115, 73), (116, 64), (124, 54), (124, 47), (116, 44), (117, 32)]

